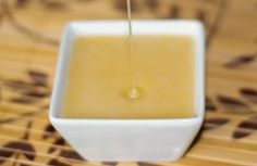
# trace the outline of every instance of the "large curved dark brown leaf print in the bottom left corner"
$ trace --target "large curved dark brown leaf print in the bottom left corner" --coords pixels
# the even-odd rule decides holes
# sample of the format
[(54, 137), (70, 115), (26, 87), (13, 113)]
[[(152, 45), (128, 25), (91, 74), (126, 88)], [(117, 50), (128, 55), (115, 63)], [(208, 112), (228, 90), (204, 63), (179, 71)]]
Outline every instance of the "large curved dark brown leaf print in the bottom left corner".
[(23, 153), (29, 161), (34, 161), (36, 157), (35, 156), (36, 151), (29, 142), (13, 141), (4, 144), (3, 146), (9, 149), (20, 150), (20, 153), (29, 152), (29, 153)]

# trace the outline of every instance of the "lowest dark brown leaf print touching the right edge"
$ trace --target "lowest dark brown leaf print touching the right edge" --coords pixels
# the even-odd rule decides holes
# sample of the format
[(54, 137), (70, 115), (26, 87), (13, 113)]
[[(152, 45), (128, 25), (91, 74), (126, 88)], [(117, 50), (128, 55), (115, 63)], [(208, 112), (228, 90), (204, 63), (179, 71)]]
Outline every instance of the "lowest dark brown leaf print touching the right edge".
[(241, 122), (233, 131), (234, 139), (242, 139), (254, 133), (257, 130), (257, 116)]

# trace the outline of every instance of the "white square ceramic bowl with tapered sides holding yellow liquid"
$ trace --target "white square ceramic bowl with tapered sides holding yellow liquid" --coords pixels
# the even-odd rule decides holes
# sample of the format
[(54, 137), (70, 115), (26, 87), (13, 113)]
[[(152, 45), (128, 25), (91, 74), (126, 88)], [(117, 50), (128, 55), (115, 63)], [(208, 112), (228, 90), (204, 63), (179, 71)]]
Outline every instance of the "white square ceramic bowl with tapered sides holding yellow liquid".
[(124, 35), (126, 21), (72, 22), (66, 25), (58, 60), (50, 120), (89, 161), (175, 161), (187, 150), (204, 118), (204, 29), (197, 21), (134, 21), (133, 33), (187, 35), (195, 41), (195, 112), (192, 118), (74, 119), (59, 116), (72, 42), (77, 36)]

